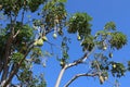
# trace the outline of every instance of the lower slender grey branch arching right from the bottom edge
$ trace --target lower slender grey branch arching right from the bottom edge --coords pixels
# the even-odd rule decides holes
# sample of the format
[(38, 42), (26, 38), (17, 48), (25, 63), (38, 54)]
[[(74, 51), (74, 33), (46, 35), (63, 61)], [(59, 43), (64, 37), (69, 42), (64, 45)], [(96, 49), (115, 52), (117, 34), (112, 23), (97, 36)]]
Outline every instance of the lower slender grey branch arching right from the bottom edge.
[(83, 73), (83, 74), (77, 74), (75, 75), (70, 80), (68, 80), (68, 83), (64, 86), (64, 87), (68, 87), (75, 79), (77, 79), (78, 77), (81, 76), (98, 76), (99, 74), (88, 74), (88, 73)]

